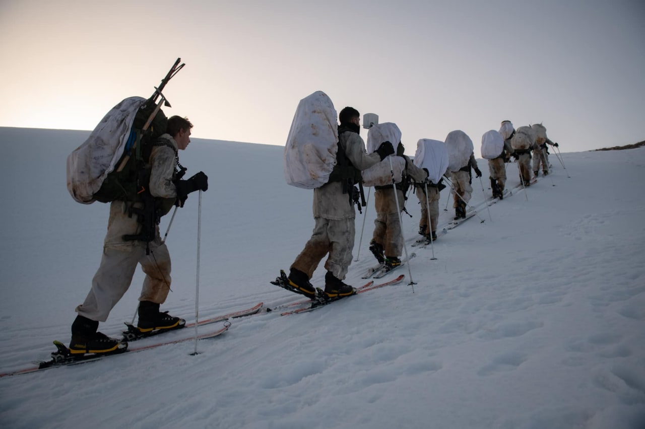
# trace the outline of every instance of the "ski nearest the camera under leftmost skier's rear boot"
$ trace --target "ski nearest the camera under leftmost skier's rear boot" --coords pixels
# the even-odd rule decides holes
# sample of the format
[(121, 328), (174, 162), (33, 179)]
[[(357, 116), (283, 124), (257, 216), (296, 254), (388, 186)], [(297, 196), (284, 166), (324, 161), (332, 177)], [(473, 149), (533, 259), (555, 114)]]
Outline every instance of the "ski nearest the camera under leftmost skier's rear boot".
[[(197, 336), (197, 339), (215, 338), (217, 336), (220, 336), (221, 334), (226, 332), (226, 330), (228, 330), (230, 325), (231, 323), (229, 321), (226, 321), (224, 323), (224, 326), (221, 327), (220, 329), (217, 329), (212, 332), (206, 332), (205, 334), (200, 334)], [(108, 357), (121, 356), (123, 354), (143, 352), (143, 350), (150, 350), (151, 348), (157, 348), (164, 345), (183, 343), (185, 341), (191, 341), (193, 339), (195, 339), (194, 336), (188, 337), (188, 338), (172, 339), (170, 341), (161, 341), (159, 343), (143, 345), (143, 346), (134, 347), (134, 348), (121, 348), (121, 349), (115, 350), (115, 352), (107, 353), (107, 354), (98, 354), (98, 353), (83, 354), (81, 356), (73, 356), (70, 353), (69, 348), (67, 348), (66, 345), (61, 343), (61, 341), (54, 341), (54, 345), (56, 346), (57, 350), (52, 353), (51, 360), (43, 361), (35, 367), (25, 368), (14, 372), (5, 372), (3, 374), (0, 374), (0, 377), (17, 376), (20, 374), (31, 374), (32, 372), (43, 371), (43, 370), (48, 370), (50, 368), (63, 367), (67, 365), (80, 365), (81, 363), (100, 361)], [(124, 343), (124, 344), (127, 344), (127, 343)]]

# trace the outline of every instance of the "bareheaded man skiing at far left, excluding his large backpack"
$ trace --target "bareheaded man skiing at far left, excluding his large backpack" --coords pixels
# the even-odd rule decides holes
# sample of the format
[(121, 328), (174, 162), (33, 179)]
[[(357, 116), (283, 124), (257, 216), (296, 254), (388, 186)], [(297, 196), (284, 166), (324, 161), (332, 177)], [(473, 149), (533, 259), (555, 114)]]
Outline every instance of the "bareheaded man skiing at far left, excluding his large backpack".
[[(183, 207), (189, 193), (208, 189), (208, 177), (199, 172), (188, 180), (177, 179), (179, 158), (177, 150), (184, 150), (190, 143), (192, 124), (178, 116), (168, 119), (166, 133), (153, 143), (147, 169), (150, 171), (148, 188), (155, 204), (163, 206), (168, 213), (173, 204)], [(132, 214), (143, 202), (115, 200), (110, 204), (108, 231), (103, 246), (101, 265), (92, 280), (92, 289), (83, 304), (76, 307), (78, 313), (72, 323), (72, 354), (108, 353), (122, 348), (121, 340), (109, 338), (97, 332), (99, 321), (106, 321), (110, 311), (128, 291), (138, 264), (146, 274), (139, 296), (139, 319), (137, 329), (141, 333), (152, 330), (174, 329), (183, 319), (160, 312), (170, 291), (170, 254), (161, 242), (159, 225), (154, 225), (155, 238), (149, 243), (141, 240), (126, 240), (124, 236), (140, 236), (143, 225)], [(162, 214), (162, 215), (163, 215)], [(150, 255), (146, 255), (146, 247)]]

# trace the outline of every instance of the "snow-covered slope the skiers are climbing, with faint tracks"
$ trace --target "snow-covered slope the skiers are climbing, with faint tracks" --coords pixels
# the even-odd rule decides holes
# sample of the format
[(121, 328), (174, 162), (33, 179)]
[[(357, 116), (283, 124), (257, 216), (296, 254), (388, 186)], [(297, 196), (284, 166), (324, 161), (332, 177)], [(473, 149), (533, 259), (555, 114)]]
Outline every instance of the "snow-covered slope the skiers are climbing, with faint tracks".
[[(69, 341), (74, 307), (99, 264), (108, 207), (77, 204), (65, 187), (66, 157), (86, 135), (0, 128), (0, 372), (48, 359), (53, 339)], [(470, 137), (477, 146), (481, 137)], [(269, 283), (313, 227), (312, 191), (284, 183), (282, 148), (195, 138), (180, 156), (189, 175), (203, 170), (210, 182), (200, 318), (298, 300)], [(642, 429), (645, 148), (563, 153), (566, 170), (550, 159), (552, 175), (490, 213), (482, 204), (488, 167), (479, 160), (486, 180), (482, 193), (473, 178), (471, 203), (486, 222), (468, 220), (433, 250), (411, 247), (419, 220), (411, 195), (404, 231), (417, 253), (413, 288), (401, 269), (403, 283), (315, 312), (233, 319), (223, 336), (197, 343), (197, 356), (188, 341), (3, 377), (2, 426)], [(517, 165), (508, 164), (508, 187), (518, 183)], [(441, 225), (453, 214), (443, 210), (446, 198), (447, 189)], [(188, 198), (168, 234), (173, 292), (162, 309), (188, 321), (198, 202)], [(360, 248), (357, 215), (359, 261), (347, 278), (355, 286), (374, 263), (372, 204)], [(323, 285), (323, 276), (321, 265), (313, 283)], [(102, 332), (118, 336), (132, 320), (142, 279), (137, 272)]]

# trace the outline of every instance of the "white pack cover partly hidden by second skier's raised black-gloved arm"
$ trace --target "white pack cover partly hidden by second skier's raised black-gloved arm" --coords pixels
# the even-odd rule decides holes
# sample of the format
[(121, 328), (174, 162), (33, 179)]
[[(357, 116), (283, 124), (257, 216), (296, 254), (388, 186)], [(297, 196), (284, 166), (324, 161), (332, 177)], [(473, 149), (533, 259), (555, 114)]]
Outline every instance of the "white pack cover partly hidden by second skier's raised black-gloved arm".
[[(401, 141), (401, 130), (393, 122), (383, 122), (370, 128), (367, 134), (367, 152), (373, 153), (381, 146), (382, 142), (390, 142), (396, 151), (397, 145)], [(390, 169), (390, 160), (392, 160), (392, 169)], [(394, 182), (401, 183), (405, 171), (405, 160), (402, 157), (388, 157), (362, 171), (364, 186), (386, 186), (392, 184), (392, 173), (394, 173)]]

